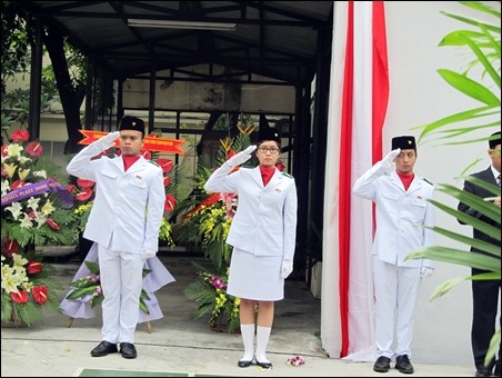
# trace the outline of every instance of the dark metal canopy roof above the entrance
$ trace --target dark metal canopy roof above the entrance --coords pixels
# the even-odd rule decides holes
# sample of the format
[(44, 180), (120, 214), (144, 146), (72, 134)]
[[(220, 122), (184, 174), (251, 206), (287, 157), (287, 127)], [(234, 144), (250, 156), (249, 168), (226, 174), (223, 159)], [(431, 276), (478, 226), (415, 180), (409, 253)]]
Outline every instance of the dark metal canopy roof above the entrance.
[[(61, 28), (119, 78), (215, 63), (305, 84), (315, 73), (320, 36), (331, 33), (333, 1), (26, 1), (22, 7)], [(131, 19), (237, 27), (133, 27)]]

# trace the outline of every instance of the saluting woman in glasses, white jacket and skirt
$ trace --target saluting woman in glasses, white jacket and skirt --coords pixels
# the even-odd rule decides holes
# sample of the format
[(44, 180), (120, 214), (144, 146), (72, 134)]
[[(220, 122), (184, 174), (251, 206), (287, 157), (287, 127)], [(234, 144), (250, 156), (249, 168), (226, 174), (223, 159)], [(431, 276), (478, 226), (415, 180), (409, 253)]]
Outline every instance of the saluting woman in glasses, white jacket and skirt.
[[(267, 346), (274, 301), (284, 298), (284, 279), (293, 270), (297, 187), (292, 176), (275, 168), (280, 149), (279, 131), (260, 128), (257, 146), (227, 160), (205, 182), (205, 190), (233, 192), (239, 201), (227, 238), (233, 247), (227, 292), (241, 299), (239, 314), (244, 345), (244, 355), (238, 361), (241, 368), (249, 367), (254, 359), (264, 369), (272, 367)], [(259, 167), (235, 170), (254, 152)]]

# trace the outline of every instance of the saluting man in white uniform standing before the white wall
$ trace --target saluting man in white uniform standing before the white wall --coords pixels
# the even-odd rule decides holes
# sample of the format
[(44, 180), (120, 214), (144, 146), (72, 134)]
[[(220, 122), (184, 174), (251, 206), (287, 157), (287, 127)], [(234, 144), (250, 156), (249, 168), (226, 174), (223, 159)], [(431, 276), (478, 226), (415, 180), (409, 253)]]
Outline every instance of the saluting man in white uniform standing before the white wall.
[[(376, 232), (373, 240), (375, 295), (375, 345), (373, 370), (386, 372), (395, 357), (395, 368), (414, 371), (411, 358), (414, 311), (421, 279), (433, 272), (428, 259), (404, 260), (416, 248), (434, 242), (433, 206), (428, 202), (434, 188), (418, 177), (416, 143), (412, 136), (392, 139), (392, 151), (376, 162), (352, 188), (360, 197), (376, 203)], [(396, 332), (395, 350), (394, 327)]]

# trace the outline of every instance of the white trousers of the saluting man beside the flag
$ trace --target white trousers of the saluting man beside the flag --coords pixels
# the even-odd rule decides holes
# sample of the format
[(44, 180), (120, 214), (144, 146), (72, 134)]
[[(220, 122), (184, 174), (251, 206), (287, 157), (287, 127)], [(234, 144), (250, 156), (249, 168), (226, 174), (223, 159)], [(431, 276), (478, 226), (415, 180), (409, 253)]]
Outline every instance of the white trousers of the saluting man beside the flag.
[[(375, 345), (378, 357), (411, 358), (414, 312), (420, 289), (420, 268), (404, 268), (373, 257)], [(394, 328), (395, 327), (395, 328)], [(395, 351), (393, 351), (395, 329)]]

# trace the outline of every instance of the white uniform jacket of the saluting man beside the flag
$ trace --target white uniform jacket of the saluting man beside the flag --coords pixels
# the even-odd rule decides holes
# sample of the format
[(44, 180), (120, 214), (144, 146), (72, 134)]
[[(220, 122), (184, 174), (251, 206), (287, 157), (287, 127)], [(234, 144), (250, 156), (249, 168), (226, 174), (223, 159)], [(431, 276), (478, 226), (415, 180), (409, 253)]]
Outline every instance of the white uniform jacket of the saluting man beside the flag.
[(434, 226), (432, 198), (434, 187), (415, 175), (408, 190), (395, 171), (385, 172), (376, 162), (352, 188), (360, 197), (376, 203), (376, 232), (372, 253), (380, 260), (400, 267), (433, 268), (429, 259), (404, 258), (412, 250), (434, 243), (434, 231), (421, 226)]

